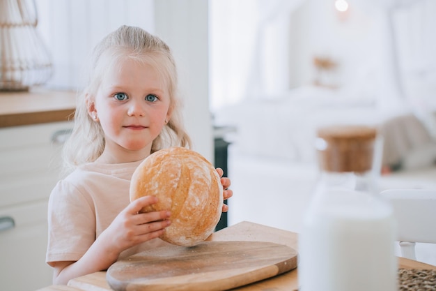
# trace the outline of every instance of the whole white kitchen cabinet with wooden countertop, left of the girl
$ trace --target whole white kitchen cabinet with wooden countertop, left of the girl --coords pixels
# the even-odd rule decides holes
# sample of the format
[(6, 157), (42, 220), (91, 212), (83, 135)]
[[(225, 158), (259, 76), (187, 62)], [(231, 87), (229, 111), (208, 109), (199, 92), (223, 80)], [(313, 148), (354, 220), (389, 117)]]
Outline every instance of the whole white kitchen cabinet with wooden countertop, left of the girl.
[(0, 290), (33, 290), (52, 282), (53, 270), (44, 260), (47, 201), (59, 181), (75, 96), (42, 88), (0, 91), (0, 218), (7, 228), (0, 233)]

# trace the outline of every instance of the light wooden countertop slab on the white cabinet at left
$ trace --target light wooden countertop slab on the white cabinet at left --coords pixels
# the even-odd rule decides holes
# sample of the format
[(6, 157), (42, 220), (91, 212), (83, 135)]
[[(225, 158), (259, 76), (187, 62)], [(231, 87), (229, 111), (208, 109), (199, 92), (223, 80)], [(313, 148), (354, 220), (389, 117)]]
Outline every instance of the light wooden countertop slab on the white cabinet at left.
[(75, 91), (0, 92), (0, 128), (71, 120)]

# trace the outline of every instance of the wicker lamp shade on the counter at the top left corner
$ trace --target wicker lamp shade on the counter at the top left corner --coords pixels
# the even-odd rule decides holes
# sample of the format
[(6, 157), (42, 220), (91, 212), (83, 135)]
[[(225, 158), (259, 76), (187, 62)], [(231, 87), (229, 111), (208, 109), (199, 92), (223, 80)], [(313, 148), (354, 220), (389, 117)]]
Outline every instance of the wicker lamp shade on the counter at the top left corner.
[(0, 0), (1, 91), (26, 91), (52, 76), (52, 62), (37, 24), (34, 1)]

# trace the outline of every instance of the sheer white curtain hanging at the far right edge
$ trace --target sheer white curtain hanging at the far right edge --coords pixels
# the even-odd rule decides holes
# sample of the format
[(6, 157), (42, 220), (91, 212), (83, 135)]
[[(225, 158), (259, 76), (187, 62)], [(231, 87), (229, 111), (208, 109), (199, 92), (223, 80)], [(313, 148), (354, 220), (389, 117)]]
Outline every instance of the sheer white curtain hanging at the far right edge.
[[(411, 112), (436, 138), (436, 1), (366, 1), (378, 10), (380, 107)], [(384, 73), (384, 75), (383, 75)], [(389, 98), (390, 96), (390, 98)]]

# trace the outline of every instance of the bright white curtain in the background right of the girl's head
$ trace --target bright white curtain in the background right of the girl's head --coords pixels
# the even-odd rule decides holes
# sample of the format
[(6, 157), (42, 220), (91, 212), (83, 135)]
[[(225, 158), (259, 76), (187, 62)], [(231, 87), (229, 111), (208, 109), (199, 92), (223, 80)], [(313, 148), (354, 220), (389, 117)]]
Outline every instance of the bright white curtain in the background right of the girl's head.
[(289, 88), (289, 19), (303, 0), (210, 0), (212, 111)]

